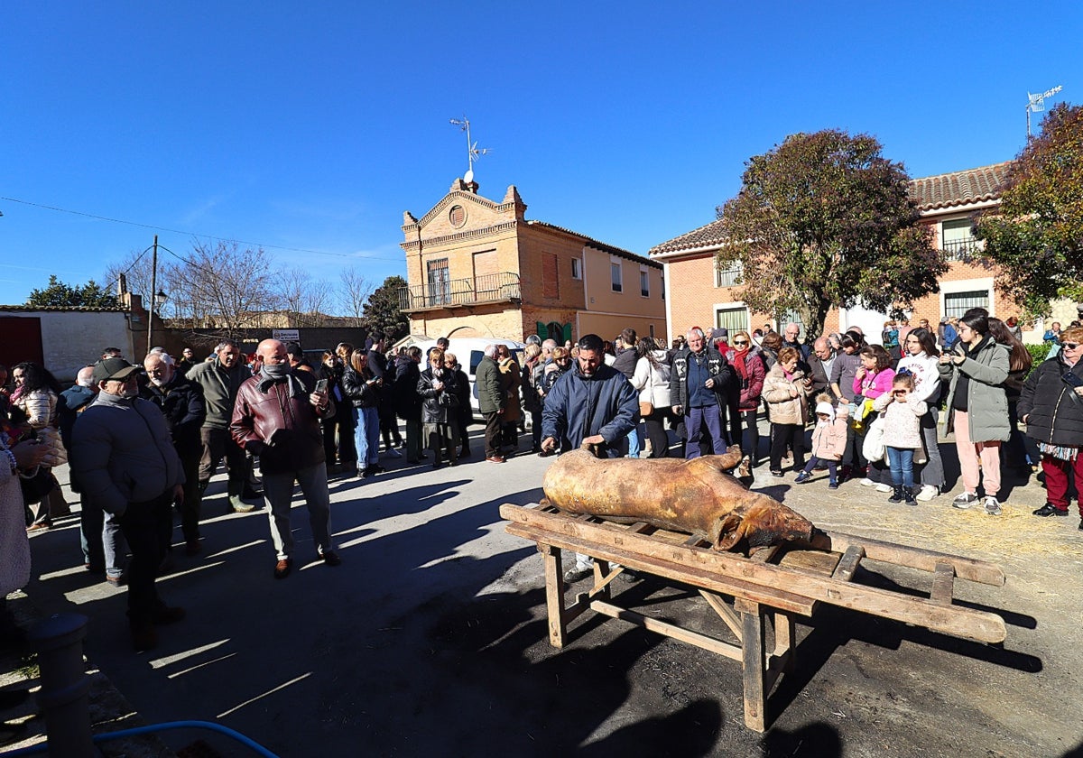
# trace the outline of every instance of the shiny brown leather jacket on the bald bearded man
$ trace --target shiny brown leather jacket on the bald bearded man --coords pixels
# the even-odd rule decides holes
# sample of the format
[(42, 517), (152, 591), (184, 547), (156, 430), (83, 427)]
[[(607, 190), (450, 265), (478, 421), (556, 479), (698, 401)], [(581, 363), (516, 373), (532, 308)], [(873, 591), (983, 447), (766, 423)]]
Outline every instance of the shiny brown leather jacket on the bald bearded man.
[(246, 450), (260, 457), (264, 473), (286, 473), (326, 462), (319, 420), (335, 415), (328, 401), (317, 410), (309, 401), (316, 379), (310, 371), (292, 371), (302, 392), (290, 396), (290, 383), (283, 380), (260, 391), (257, 375), (240, 385), (233, 408), (230, 433)]

